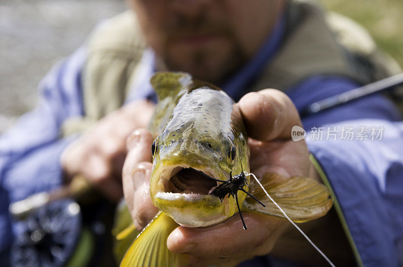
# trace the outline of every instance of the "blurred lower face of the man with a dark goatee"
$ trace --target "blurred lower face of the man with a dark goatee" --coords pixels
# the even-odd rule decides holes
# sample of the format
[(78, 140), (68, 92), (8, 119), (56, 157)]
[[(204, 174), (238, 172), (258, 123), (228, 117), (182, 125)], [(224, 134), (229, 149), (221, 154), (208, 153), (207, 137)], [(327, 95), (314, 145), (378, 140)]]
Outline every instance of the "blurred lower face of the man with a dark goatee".
[(270, 34), (284, 0), (129, 0), (169, 70), (220, 83)]

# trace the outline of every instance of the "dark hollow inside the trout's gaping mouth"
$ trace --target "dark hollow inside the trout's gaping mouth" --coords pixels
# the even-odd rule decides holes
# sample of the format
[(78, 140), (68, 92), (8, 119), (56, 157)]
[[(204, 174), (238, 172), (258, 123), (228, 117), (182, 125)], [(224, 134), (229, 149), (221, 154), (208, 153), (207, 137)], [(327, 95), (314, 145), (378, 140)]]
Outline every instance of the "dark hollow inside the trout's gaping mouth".
[(160, 183), (163, 183), (165, 193), (209, 195), (218, 183), (207, 177), (215, 177), (210, 171), (202, 172), (181, 166), (174, 167), (170, 174), (164, 176)]

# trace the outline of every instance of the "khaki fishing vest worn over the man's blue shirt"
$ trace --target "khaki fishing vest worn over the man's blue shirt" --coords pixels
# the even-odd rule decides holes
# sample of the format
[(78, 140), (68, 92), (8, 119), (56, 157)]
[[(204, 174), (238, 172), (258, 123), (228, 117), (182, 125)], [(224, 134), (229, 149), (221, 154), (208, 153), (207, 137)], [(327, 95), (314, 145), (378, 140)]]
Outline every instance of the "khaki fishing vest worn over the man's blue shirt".
[[(122, 106), (146, 47), (136, 15), (127, 11), (96, 29), (83, 75), (85, 118), (67, 120), (61, 135), (81, 131)], [(350, 19), (292, 1), (281, 49), (245, 91), (285, 91), (311, 75), (341, 75), (360, 84), (401, 72), (367, 31)]]

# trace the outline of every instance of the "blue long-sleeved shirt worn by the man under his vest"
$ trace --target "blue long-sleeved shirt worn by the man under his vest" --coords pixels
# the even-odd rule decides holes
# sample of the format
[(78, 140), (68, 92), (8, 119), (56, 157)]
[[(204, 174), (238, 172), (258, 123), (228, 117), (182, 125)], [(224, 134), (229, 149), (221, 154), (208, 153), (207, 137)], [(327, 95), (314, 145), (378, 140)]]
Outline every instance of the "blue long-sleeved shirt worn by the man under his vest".
[[(223, 85), (232, 97), (239, 98), (275, 54), (283, 23), (277, 24), (256, 56)], [(144, 71), (135, 79), (128, 101), (153, 98), (151, 87), (144, 86), (154, 70), (153, 56), (151, 50), (144, 54)], [(61, 184), (59, 156), (74, 137), (59, 138), (59, 128), (64, 120), (85, 115), (81, 75), (86, 57), (83, 47), (55, 66), (39, 86), (38, 107), (0, 137), (0, 252), (7, 251), (19, 232), (19, 223), (8, 213), (9, 204)], [(318, 75), (286, 93), (301, 111), (314, 101), (357, 86), (344, 77)], [(398, 122), (399, 112), (388, 99), (374, 95), (302, 119), (307, 137), (313, 127), (323, 127), (324, 135), (332, 127), (384, 127), (379, 141), (306, 141), (327, 174), (363, 263), (397, 265), (403, 254), (398, 251), (403, 243), (403, 123)]]

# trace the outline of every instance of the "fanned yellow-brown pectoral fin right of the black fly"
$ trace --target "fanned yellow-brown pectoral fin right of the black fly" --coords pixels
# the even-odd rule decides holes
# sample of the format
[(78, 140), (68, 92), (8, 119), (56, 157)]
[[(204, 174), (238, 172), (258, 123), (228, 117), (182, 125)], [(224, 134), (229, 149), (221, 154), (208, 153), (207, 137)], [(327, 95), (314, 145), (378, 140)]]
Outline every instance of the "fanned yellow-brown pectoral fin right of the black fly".
[[(310, 178), (266, 173), (260, 182), (294, 222), (306, 222), (322, 217), (333, 204), (327, 187)], [(283, 213), (267, 198), (257, 183), (251, 187), (250, 194), (266, 207), (248, 197), (243, 203), (244, 210), (284, 218)]]

